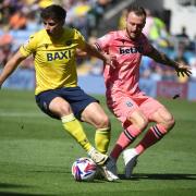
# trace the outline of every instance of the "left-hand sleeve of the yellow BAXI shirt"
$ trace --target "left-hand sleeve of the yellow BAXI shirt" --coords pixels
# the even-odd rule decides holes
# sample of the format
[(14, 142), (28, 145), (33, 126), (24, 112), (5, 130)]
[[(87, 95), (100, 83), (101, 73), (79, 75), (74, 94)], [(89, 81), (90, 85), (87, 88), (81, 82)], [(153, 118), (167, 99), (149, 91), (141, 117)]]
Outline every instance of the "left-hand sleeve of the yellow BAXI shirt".
[(29, 39), (28, 39), (24, 45), (22, 45), (22, 46), (20, 47), (21, 53), (22, 53), (24, 57), (30, 56), (30, 54), (32, 54), (33, 52), (35, 52), (35, 50), (36, 50), (36, 46), (37, 46), (36, 42), (37, 42), (37, 41), (36, 41), (35, 36), (32, 35), (32, 36), (29, 37)]

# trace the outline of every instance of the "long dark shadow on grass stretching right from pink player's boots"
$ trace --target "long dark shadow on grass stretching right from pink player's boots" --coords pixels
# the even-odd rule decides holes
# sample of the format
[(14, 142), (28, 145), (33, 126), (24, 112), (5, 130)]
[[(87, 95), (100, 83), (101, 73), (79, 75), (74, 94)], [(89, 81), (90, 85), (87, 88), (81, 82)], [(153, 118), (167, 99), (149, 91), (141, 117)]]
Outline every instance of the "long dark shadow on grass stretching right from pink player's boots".
[[(119, 175), (121, 180), (125, 179), (124, 174)], [(191, 173), (136, 173), (133, 174), (132, 181), (139, 181), (139, 180), (191, 180), (196, 181), (196, 174)]]

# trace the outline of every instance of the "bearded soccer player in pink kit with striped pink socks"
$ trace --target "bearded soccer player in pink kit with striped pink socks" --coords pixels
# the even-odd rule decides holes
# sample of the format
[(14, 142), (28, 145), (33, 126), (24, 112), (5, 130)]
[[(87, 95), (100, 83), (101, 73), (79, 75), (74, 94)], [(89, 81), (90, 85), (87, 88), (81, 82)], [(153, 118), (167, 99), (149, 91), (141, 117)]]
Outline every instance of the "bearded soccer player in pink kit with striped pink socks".
[[(143, 56), (173, 68), (177, 75), (189, 76), (189, 66), (180, 64), (158, 51), (142, 33), (146, 22), (144, 8), (133, 5), (126, 17), (126, 28), (110, 32), (97, 39), (95, 46), (100, 51), (117, 58), (115, 69), (103, 68), (109, 109), (121, 121), (123, 132), (120, 134), (111, 154), (107, 168), (118, 179), (117, 160), (123, 151), (125, 176), (132, 176), (133, 168), (148, 147), (158, 143), (173, 126), (174, 118), (158, 100), (148, 97), (138, 87), (139, 63)], [(144, 138), (132, 149), (125, 149), (147, 127)]]

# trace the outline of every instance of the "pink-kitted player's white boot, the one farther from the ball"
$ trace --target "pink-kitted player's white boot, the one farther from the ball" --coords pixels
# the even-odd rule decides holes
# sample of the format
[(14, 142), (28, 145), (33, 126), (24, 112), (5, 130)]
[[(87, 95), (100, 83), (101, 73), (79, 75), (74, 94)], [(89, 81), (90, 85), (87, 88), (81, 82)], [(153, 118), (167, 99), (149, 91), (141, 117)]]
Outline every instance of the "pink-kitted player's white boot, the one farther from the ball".
[(138, 154), (135, 151), (134, 148), (126, 149), (123, 151), (123, 160), (125, 164), (124, 174), (126, 179), (132, 177), (133, 169), (137, 164), (137, 157), (138, 157)]

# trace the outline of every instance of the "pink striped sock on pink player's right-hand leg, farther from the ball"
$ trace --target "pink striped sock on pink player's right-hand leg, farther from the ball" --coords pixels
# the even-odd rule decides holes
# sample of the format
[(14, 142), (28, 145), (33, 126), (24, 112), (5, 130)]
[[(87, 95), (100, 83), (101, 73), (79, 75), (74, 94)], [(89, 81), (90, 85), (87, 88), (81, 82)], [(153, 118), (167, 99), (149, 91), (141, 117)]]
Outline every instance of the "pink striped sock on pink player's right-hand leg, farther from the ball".
[(138, 155), (140, 155), (148, 147), (159, 142), (167, 134), (167, 132), (168, 131), (160, 124), (151, 126), (144, 136), (144, 138), (136, 146), (135, 150), (137, 151)]

